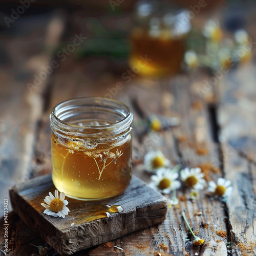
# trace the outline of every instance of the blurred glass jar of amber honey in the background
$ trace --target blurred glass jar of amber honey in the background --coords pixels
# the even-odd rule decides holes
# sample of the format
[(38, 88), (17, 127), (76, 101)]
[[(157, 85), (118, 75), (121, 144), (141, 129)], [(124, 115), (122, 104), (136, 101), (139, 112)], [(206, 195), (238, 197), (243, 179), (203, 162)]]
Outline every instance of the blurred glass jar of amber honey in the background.
[(130, 67), (147, 77), (178, 72), (190, 27), (185, 9), (157, 1), (139, 1), (130, 38)]

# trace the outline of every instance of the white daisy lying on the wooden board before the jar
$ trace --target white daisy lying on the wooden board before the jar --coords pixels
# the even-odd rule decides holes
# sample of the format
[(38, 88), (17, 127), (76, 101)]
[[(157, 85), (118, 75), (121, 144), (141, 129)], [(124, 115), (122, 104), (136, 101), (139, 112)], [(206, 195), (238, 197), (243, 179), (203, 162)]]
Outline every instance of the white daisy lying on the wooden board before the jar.
[(65, 199), (65, 193), (58, 193), (58, 190), (55, 190), (55, 197), (49, 192), (49, 196), (46, 196), (45, 203), (41, 203), (46, 209), (44, 210), (44, 214), (53, 216), (53, 217), (62, 217), (65, 218), (66, 215), (69, 214), (68, 200)]

